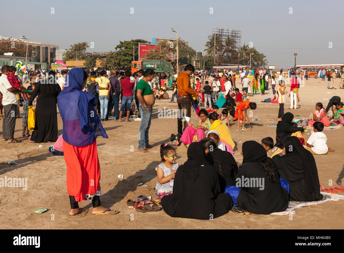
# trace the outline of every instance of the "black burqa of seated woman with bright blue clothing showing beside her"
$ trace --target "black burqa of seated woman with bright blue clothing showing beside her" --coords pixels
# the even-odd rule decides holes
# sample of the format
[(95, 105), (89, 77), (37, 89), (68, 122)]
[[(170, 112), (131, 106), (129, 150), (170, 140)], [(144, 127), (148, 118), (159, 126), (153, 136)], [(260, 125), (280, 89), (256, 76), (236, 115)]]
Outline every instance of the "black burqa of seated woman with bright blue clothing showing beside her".
[[(239, 185), (241, 191), (237, 199), (238, 205), (256, 214), (270, 214), (286, 210), (288, 192), (282, 188), (277, 168), (271, 158), (267, 157), (265, 149), (256, 141), (245, 141), (243, 144), (243, 157), (243, 164), (238, 169), (236, 184), (239, 182), (244, 183), (245, 178), (248, 178), (250, 183), (248, 186), (244, 185), (244, 187)], [(272, 182), (263, 171), (263, 164), (270, 166), (268, 168), (275, 175), (275, 182)], [(263, 187), (259, 186), (259, 179), (261, 180), (260, 185)]]

